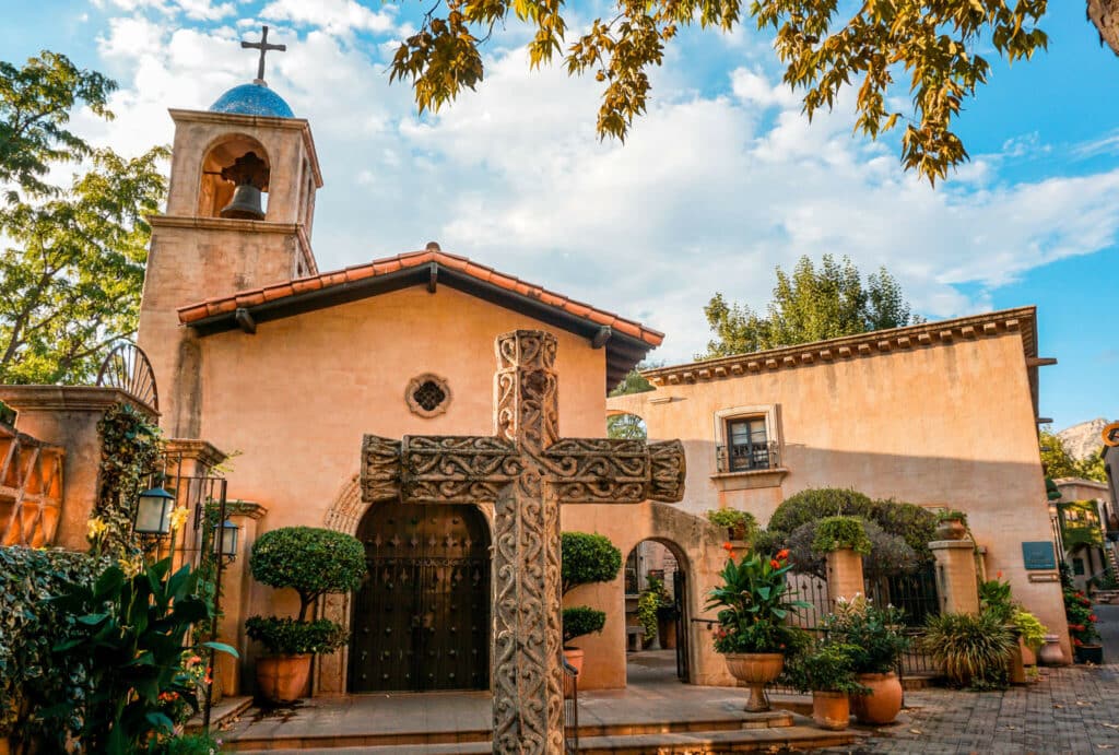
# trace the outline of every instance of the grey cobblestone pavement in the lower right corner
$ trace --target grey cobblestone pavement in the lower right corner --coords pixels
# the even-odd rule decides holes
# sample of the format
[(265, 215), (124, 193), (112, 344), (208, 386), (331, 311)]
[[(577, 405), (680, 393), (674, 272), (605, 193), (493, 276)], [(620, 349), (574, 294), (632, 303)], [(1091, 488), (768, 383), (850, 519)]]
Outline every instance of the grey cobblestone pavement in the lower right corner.
[(1119, 755), (1119, 666), (1042, 669), (1005, 692), (908, 692), (900, 723), (827, 753), (1107, 753)]

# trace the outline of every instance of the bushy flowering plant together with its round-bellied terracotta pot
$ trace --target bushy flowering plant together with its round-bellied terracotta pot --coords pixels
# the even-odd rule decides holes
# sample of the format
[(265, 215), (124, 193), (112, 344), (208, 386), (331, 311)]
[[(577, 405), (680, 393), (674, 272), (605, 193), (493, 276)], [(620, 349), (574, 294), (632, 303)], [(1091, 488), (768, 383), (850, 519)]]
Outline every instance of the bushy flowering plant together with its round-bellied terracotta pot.
[(850, 645), (858, 683), (866, 693), (852, 697), (852, 709), (861, 724), (888, 724), (902, 709), (902, 685), (894, 669), (909, 638), (902, 632), (902, 612), (878, 608), (862, 595), (839, 598), (835, 613), (824, 619), (824, 631), (836, 642)]

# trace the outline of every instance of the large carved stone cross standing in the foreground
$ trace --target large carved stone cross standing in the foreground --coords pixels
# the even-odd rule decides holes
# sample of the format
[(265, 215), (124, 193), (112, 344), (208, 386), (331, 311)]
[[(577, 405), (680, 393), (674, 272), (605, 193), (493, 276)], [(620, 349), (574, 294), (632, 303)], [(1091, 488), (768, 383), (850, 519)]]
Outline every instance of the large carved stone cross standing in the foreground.
[(679, 441), (561, 438), (556, 339), (497, 338), (492, 436), (366, 435), (361, 498), (493, 501), (493, 752), (564, 751), (560, 504), (676, 502)]

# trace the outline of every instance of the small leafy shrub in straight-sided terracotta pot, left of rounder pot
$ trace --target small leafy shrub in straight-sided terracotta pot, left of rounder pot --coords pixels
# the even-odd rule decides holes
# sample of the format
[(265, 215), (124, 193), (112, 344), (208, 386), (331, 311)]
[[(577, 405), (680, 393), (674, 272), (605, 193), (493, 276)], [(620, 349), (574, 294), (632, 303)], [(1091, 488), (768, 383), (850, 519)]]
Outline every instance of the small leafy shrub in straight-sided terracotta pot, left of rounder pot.
[(794, 655), (784, 673), (801, 692), (812, 693), (812, 720), (826, 729), (841, 730), (850, 724), (850, 695), (865, 695), (868, 688), (855, 677), (858, 649), (830, 639), (821, 639)]

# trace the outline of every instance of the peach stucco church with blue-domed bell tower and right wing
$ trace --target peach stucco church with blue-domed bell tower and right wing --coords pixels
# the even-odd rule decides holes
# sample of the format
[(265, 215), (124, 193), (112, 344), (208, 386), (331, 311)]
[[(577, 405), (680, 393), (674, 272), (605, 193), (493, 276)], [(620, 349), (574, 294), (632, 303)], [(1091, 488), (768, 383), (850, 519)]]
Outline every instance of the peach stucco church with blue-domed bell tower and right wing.
[[(684, 441), (684, 502), (564, 506), (561, 516), (563, 530), (606, 535), (623, 555), (662, 544), (686, 575), (685, 617), (708, 615), (704, 593), (723, 565), (725, 531), (706, 509), (743, 508), (764, 523), (792, 492), (850, 485), (969, 511), (989, 572), (1009, 575), (1015, 595), (1066, 635), (1056, 585), (1034, 582), (1019, 548), (1050, 534), (1032, 309), (661, 368), (648, 374), (656, 390), (608, 402), (660, 332), (434, 242), (320, 271), (311, 124), (261, 78), (207, 111), (170, 115), (170, 196), (151, 219), (138, 342), (172, 446), (200, 469), (227, 457), (245, 534), (226, 572), (222, 634), (242, 652), (223, 676), (227, 692), (252, 687), (245, 619), (297, 607), (252, 581), (252, 538), (294, 525), (355, 535), (370, 566), (357, 592), (319, 606), (351, 640), (317, 659), (309, 691), (490, 688), (492, 502), (369, 506), (358, 471), (366, 433), (491, 434), (495, 338), (515, 329), (557, 339), (563, 435), (603, 436), (609, 412), (639, 415), (650, 438)], [(580, 687), (624, 687), (624, 578), (567, 598), (608, 612), (604, 632), (585, 638)], [(680, 626), (684, 681), (728, 683), (704, 625)]]

